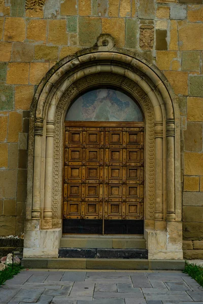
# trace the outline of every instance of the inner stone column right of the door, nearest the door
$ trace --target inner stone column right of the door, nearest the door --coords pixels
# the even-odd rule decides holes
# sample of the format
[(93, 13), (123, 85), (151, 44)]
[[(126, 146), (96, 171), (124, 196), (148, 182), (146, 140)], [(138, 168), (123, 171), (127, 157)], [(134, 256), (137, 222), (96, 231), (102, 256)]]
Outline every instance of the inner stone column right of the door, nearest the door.
[(154, 123), (155, 134), (155, 219), (163, 219), (163, 122)]

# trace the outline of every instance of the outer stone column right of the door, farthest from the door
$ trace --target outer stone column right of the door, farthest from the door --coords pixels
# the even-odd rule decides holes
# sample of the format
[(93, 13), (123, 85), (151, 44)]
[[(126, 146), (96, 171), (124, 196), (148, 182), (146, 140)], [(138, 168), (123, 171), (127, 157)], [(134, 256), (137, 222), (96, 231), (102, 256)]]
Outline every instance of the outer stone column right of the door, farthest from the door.
[(166, 120), (166, 183), (167, 183), (167, 219), (175, 220), (175, 161), (174, 144), (175, 123), (173, 119)]

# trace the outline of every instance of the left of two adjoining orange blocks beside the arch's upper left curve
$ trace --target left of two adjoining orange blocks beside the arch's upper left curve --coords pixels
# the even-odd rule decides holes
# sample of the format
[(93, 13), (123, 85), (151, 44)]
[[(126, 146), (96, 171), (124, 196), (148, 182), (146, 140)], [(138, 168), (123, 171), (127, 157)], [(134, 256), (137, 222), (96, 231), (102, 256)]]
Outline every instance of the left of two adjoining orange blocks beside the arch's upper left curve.
[(29, 63), (10, 62), (7, 69), (7, 84), (27, 85), (29, 77)]

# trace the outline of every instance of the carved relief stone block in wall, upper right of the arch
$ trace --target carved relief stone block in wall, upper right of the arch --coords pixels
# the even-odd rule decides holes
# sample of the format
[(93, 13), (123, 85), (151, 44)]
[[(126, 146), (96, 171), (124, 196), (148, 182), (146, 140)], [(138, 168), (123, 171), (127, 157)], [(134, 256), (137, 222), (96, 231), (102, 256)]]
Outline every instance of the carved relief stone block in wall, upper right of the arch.
[(154, 26), (143, 24), (140, 27), (140, 47), (144, 50), (150, 50), (154, 45)]

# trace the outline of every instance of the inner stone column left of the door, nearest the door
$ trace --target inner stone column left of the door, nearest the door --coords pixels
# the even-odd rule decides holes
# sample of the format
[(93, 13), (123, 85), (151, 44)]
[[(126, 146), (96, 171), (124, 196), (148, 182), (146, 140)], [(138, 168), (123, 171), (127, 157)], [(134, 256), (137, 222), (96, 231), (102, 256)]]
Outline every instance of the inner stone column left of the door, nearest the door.
[(44, 219), (52, 219), (54, 121), (47, 122)]

